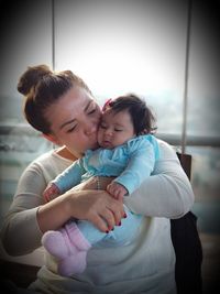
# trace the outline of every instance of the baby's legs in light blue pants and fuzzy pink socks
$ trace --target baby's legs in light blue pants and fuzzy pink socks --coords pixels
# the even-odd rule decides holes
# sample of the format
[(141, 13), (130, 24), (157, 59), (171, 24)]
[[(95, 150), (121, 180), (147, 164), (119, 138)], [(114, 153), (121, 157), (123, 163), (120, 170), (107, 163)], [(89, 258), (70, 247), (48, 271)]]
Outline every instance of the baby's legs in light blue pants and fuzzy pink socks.
[(89, 221), (68, 221), (64, 228), (57, 231), (47, 231), (42, 243), (45, 249), (59, 260), (58, 272), (68, 276), (73, 273), (81, 273), (86, 269), (87, 252), (92, 244), (105, 240), (105, 246), (129, 243), (135, 235), (142, 221), (142, 216), (132, 214), (125, 208), (127, 218), (121, 226), (116, 226), (109, 233), (101, 232)]

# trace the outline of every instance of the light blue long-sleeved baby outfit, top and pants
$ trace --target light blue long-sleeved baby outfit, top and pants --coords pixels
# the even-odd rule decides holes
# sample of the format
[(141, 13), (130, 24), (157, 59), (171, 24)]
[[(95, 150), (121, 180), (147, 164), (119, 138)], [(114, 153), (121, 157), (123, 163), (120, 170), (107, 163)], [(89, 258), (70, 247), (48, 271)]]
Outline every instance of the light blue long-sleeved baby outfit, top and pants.
[[(158, 156), (156, 139), (151, 134), (139, 135), (111, 150), (88, 150), (84, 157), (74, 162), (52, 183), (63, 194), (91, 176), (113, 176), (113, 181), (123, 185), (130, 195), (151, 175)], [(131, 213), (125, 206), (124, 210), (128, 217), (122, 219), (121, 226), (116, 226), (109, 233), (101, 232), (89, 221), (76, 222), (90, 244), (100, 246), (100, 241), (106, 246), (125, 244), (138, 233), (142, 216)]]

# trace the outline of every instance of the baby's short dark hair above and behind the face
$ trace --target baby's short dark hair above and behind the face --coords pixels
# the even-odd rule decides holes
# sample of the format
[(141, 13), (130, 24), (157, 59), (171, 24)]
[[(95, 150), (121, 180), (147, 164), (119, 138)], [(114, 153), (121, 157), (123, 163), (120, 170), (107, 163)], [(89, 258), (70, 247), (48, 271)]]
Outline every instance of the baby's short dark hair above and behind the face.
[(120, 96), (110, 100), (105, 110), (111, 109), (116, 113), (128, 110), (134, 127), (136, 135), (144, 133), (154, 133), (156, 130), (156, 119), (146, 102), (134, 94)]

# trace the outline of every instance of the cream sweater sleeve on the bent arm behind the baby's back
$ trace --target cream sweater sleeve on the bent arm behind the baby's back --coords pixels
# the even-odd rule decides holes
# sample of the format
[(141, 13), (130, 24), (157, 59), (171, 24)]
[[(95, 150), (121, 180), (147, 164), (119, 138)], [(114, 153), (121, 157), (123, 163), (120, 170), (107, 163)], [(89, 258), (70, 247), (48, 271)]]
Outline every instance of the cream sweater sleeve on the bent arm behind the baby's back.
[(152, 176), (124, 198), (128, 207), (150, 217), (179, 218), (190, 210), (194, 193), (174, 149), (158, 140), (161, 159)]

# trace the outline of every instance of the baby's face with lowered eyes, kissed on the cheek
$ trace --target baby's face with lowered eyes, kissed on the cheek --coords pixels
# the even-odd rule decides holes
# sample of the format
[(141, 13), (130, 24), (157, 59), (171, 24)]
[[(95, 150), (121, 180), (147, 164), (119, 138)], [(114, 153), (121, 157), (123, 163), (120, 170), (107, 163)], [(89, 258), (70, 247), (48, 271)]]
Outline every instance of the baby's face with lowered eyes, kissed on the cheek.
[(98, 143), (101, 148), (113, 149), (135, 137), (133, 122), (128, 110), (118, 113), (107, 110), (98, 129)]

